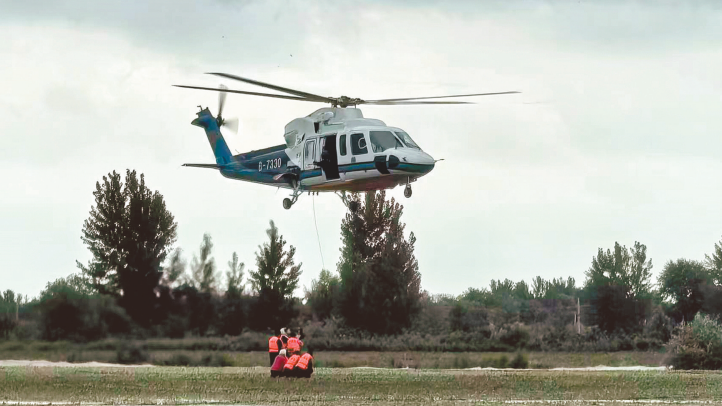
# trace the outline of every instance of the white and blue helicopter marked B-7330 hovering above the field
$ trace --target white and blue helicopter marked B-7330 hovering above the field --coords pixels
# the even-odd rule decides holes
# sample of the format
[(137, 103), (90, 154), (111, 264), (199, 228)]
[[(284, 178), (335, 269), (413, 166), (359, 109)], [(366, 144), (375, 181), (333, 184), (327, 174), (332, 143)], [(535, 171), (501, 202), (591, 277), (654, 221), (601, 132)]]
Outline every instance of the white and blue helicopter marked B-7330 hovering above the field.
[[(286, 94), (231, 90), (225, 85), (219, 88), (173, 85), (219, 92), (217, 116), (213, 117), (208, 107), (198, 106), (200, 111), (191, 122), (205, 130), (216, 163), (183, 166), (216, 169), (226, 178), (290, 189), (291, 195), (283, 199), (283, 207), (287, 210), (304, 192), (334, 192), (351, 211), (356, 211), (358, 206), (348, 199), (347, 192), (369, 192), (405, 185), (404, 196), (410, 198), (411, 183), (434, 169), (437, 160), (424, 152), (406, 131), (388, 126), (381, 120), (364, 117), (357, 106), (473, 104), (428, 99), (520, 93), (508, 91), (364, 100), (348, 96), (320, 96), (227, 73), (209, 74)], [(286, 124), (284, 144), (232, 155), (220, 130), (224, 127), (238, 131), (238, 119), (226, 120), (222, 116), (228, 93), (328, 103), (331, 107), (320, 108)]]

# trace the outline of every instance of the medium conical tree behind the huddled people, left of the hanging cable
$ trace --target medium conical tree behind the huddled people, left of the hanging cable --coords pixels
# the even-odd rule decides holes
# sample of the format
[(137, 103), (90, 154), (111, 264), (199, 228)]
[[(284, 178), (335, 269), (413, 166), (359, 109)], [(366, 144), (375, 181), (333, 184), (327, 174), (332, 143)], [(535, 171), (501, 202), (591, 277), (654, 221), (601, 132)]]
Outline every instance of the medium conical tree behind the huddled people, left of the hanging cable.
[(295, 265), (296, 248), (286, 250), (286, 240), (270, 221), (266, 230), (268, 242), (259, 246), (256, 253), (256, 271), (249, 272), (251, 286), (258, 293), (253, 306), (253, 323), (256, 328), (276, 330), (293, 317), (293, 291), (298, 286), (301, 264)]

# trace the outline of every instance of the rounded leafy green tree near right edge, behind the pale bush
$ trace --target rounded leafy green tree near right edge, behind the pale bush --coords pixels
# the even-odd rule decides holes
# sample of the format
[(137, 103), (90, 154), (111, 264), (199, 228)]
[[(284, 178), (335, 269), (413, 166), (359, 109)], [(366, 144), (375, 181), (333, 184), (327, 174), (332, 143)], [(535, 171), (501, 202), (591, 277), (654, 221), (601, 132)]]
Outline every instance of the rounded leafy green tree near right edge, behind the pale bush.
[(657, 283), (662, 297), (675, 303), (678, 316), (690, 321), (703, 306), (702, 287), (712, 280), (704, 264), (680, 258), (667, 262)]

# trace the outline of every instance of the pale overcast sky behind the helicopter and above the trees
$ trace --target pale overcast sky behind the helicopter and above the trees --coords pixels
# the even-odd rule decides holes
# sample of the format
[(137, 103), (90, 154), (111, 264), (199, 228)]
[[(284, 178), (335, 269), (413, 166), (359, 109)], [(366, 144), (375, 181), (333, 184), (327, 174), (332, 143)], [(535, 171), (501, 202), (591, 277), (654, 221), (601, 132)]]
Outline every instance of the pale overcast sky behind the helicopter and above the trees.
[[(574, 277), (599, 248), (645, 244), (656, 280), (722, 238), (722, 6), (633, 1), (0, 0), (0, 289), (77, 271), (95, 183), (135, 169), (190, 262), (210, 233), (246, 270), (273, 220), (301, 286), (339, 261), (345, 207), (225, 179), (191, 126), (227, 72), (365, 99), (518, 90), (472, 105), (363, 106), (444, 161), (388, 194), (417, 238), (423, 289)], [(469, 101), (472, 101), (469, 99)], [(233, 151), (283, 143), (317, 103), (230, 95)], [(318, 236), (316, 234), (318, 227)], [(299, 288), (297, 295), (302, 295)]]

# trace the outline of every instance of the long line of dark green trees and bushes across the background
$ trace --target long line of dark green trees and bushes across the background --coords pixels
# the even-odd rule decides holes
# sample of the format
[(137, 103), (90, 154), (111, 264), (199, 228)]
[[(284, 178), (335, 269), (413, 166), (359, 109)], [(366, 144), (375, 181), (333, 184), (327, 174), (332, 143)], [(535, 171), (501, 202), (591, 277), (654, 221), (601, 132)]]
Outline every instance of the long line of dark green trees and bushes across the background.
[(342, 221), (336, 269), (321, 270), (296, 298), (302, 264), (273, 221), (254, 269), (233, 253), (219, 270), (210, 235), (190, 262), (174, 247), (177, 222), (142, 174), (112, 172), (93, 195), (81, 237), (92, 259), (32, 300), (6, 291), (3, 337), (237, 336), (293, 325), (329, 346), (350, 336), (396, 336), (423, 348), (413, 337), (425, 337), (429, 348), (644, 349), (668, 342), (676, 324), (700, 312), (722, 313), (722, 241), (701, 261), (667, 262), (656, 284), (646, 246), (635, 242), (599, 248), (581, 285), (537, 276), (430, 295), (403, 207), (384, 192), (352, 195), (359, 210)]

